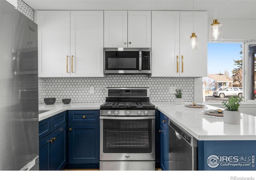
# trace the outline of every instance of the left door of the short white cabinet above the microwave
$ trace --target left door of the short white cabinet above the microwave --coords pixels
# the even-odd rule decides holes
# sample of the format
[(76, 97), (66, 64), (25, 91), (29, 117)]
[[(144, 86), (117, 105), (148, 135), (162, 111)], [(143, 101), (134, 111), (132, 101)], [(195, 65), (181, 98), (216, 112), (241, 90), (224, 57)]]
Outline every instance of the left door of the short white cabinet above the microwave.
[(127, 11), (104, 11), (104, 47), (127, 48)]

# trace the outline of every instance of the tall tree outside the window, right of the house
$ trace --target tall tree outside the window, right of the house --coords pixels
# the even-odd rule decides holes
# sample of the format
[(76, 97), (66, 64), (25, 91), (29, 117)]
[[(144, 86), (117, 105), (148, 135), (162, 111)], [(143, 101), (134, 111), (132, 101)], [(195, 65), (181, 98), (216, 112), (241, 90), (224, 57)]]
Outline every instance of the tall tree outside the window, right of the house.
[[(241, 49), (239, 54), (243, 54), (243, 51)], [(243, 56), (240, 56), (240, 58), (243, 58)], [(238, 59), (238, 60), (233, 60), (234, 61), (234, 65), (236, 66), (236, 68), (234, 68), (234, 70), (232, 70), (232, 78), (233, 78), (233, 82), (238, 82), (239, 84), (242, 84), (242, 67), (243, 67), (243, 59)]]

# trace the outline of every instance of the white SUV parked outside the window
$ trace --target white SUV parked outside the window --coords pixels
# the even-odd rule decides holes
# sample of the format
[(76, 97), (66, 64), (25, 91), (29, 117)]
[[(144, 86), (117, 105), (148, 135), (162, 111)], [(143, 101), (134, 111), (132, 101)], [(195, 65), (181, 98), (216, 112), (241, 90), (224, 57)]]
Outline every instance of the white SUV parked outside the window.
[(225, 96), (238, 96), (241, 98), (243, 96), (242, 92), (242, 88), (224, 88), (222, 90), (213, 92), (212, 96), (220, 98), (224, 98)]

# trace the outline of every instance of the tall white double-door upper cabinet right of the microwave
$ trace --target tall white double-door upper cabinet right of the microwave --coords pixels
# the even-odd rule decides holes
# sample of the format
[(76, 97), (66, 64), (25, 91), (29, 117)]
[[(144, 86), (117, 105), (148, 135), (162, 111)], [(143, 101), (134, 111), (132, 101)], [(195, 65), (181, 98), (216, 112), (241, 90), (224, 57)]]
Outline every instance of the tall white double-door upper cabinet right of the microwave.
[(207, 12), (152, 11), (152, 77), (207, 76)]

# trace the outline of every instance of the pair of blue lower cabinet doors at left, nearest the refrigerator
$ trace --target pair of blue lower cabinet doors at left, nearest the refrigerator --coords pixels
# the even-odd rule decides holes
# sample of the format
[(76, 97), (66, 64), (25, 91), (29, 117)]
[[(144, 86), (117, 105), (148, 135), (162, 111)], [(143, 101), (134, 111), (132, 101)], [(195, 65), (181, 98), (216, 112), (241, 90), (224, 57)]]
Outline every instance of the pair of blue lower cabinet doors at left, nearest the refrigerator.
[(62, 170), (67, 164), (66, 124), (39, 141), (39, 170)]

